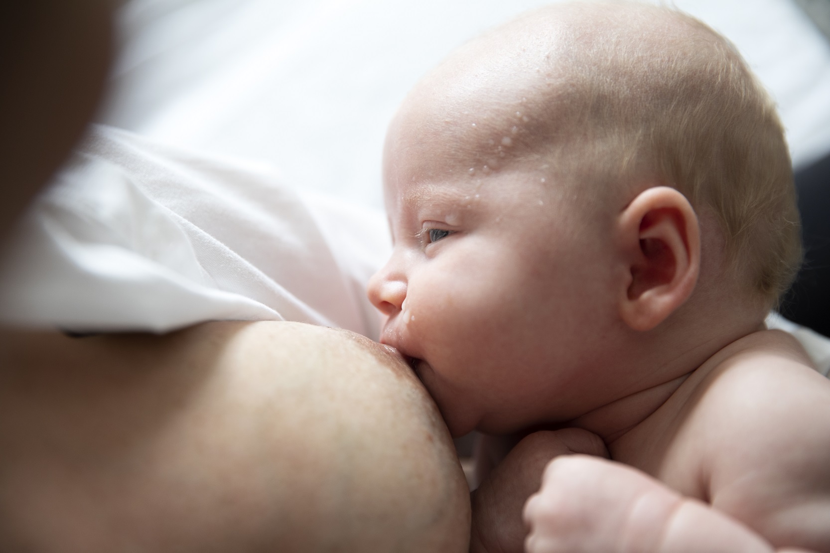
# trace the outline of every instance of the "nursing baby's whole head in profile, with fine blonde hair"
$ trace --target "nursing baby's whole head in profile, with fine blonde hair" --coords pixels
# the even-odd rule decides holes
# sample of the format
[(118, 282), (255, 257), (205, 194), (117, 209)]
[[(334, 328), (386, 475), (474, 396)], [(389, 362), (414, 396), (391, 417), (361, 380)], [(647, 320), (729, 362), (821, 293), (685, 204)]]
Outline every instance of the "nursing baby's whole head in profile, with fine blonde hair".
[(384, 186), (382, 341), (457, 435), (662, 384), (757, 328), (800, 258), (771, 101), (729, 42), (642, 4), (547, 7), (461, 47), (393, 120)]

